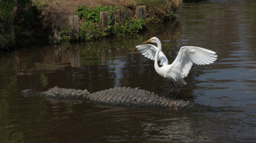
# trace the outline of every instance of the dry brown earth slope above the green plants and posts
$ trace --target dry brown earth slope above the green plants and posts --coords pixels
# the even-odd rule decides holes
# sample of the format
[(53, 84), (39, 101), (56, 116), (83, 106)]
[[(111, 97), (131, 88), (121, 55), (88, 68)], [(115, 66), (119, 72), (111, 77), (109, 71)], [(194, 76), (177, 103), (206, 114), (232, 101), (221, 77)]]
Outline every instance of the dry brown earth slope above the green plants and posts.
[[(147, 16), (151, 19), (155, 18), (160, 20), (167, 16), (167, 10), (176, 11), (182, 5), (182, 0), (160, 0), (160, 1), (147, 1), (147, 0), (33, 0), (37, 5), (42, 6), (42, 16), (45, 23), (55, 23), (61, 25), (63, 28), (68, 27), (68, 16), (77, 11), (78, 6), (118, 6), (123, 7), (128, 12), (128, 17), (133, 17), (135, 14), (135, 7), (138, 5), (147, 6)], [(164, 7), (157, 7), (165, 5)], [(162, 14), (163, 16), (153, 16)]]

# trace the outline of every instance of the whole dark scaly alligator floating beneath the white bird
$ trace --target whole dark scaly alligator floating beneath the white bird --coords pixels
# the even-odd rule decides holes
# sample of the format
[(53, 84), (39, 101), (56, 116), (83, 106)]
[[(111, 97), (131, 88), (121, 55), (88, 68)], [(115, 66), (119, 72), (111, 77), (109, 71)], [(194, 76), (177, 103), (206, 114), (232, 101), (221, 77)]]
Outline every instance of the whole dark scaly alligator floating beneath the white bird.
[(150, 93), (149, 91), (139, 89), (138, 87), (115, 87), (104, 91), (98, 91), (96, 93), (89, 93), (87, 89), (81, 90), (53, 87), (45, 92), (35, 92), (31, 89), (27, 89), (20, 93), (24, 96), (29, 96), (29, 94), (38, 94), (47, 98), (87, 100), (106, 105), (118, 105), (134, 108), (165, 108), (170, 110), (197, 112), (216, 111), (213, 107), (195, 104), (184, 100), (164, 98), (157, 94)]

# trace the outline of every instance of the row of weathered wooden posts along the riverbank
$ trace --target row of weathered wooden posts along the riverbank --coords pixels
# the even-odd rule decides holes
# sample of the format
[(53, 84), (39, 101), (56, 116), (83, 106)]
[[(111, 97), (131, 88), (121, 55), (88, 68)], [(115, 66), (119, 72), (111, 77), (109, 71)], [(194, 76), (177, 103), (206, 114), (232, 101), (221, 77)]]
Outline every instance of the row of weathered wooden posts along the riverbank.
[[(127, 19), (126, 11), (115, 10), (111, 14), (111, 23), (108, 19), (109, 12), (100, 12), (100, 28), (107, 30), (109, 25), (117, 25), (117, 23), (124, 23)], [(146, 6), (137, 6), (135, 8), (135, 19), (146, 19)], [(53, 25), (54, 29), (54, 43), (61, 42), (61, 28), (59, 25)], [(79, 40), (79, 17), (78, 15), (69, 16), (69, 35), (70, 41)]]

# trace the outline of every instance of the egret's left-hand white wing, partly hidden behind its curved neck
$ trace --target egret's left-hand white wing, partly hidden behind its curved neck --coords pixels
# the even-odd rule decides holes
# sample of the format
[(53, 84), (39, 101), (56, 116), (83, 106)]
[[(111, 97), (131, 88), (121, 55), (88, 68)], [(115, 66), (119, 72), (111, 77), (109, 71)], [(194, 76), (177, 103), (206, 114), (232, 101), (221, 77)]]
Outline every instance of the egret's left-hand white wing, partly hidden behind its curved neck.
[[(150, 44), (137, 45), (136, 48), (150, 60), (154, 60), (154, 57), (156, 56), (156, 50), (158, 49), (158, 47)], [(160, 51), (158, 54), (158, 61), (160, 61), (160, 65), (169, 64), (164, 52), (162, 51)]]

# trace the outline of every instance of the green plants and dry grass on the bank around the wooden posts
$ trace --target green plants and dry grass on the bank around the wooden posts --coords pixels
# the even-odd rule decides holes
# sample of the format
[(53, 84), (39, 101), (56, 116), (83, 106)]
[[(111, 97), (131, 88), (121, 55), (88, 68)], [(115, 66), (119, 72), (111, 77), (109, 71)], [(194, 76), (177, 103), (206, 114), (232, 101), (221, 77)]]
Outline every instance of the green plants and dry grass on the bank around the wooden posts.
[[(78, 6), (75, 15), (79, 16), (79, 39), (89, 40), (89, 39), (100, 39), (105, 36), (119, 36), (125, 34), (137, 34), (139, 30), (143, 30), (146, 27), (146, 23), (162, 23), (167, 20), (175, 19), (175, 10), (180, 7), (180, 3), (174, 3), (178, 1), (167, 0), (134, 0), (125, 1), (126, 8), (135, 9), (135, 6), (145, 5), (147, 6), (147, 19), (134, 19), (130, 16), (124, 23), (117, 23), (116, 25), (111, 25), (111, 12), (115, 10), (123, 9), (117, 6)], [(100, 28), (100, 12), (109, 12), (108, 20), (109, 27), (106, 30)], [(128, 12), (126, 12), (128, 15)], [(68, 31), (65, 29), (66, 32)], [(61, 33), (66, 33), (61, 32)], [(66, 35), (62, 35), (64, 40), (68, 40)]]

